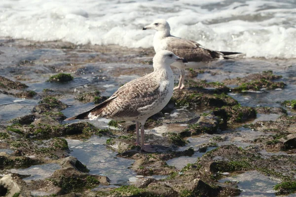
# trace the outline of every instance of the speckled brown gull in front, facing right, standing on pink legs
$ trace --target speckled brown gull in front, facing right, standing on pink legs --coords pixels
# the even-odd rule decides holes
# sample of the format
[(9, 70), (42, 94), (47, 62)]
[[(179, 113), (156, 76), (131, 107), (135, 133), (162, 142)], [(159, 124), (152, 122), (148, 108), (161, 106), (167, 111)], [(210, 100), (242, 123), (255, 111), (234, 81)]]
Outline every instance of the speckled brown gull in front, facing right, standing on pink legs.
[(153, 58), (153, 72), (124, 84), (109, 99), (65, 121), (95, 120), (99, 117), (136, 121), (136, 145), (140, 146), (141, 123), (141, 150), (153, 152), (150, 144), (144, 144), (144, 125), (146, 120), (163, 109), (173, 96), (174, 74), (170, 65), (174, 62), (186, 63), (187, 60), (171, 51), (158, 51)]

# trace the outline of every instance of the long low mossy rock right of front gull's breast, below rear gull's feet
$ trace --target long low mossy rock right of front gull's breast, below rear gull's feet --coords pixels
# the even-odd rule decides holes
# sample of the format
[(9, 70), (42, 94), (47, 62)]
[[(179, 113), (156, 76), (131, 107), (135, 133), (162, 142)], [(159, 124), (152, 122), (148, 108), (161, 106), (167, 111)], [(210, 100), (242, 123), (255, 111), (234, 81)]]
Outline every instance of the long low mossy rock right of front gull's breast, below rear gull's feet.
[(233, 106), (237, 101), (225, 94), (208, 94), (195, 90), (180, 90), (172, 97), (177, 105)]

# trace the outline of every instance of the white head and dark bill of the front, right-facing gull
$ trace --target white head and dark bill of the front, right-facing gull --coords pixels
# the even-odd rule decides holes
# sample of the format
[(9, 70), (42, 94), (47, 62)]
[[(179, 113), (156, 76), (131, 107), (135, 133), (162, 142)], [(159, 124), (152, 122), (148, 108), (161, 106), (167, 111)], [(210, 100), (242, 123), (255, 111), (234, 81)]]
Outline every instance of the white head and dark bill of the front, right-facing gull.
[(155, 66), (165, 66), (169, 67), (174, 62), (187, 63), (187, 60), (176, 56), (173, 52), (167, 50), (158, 51), (153, 57), (153, 67)]

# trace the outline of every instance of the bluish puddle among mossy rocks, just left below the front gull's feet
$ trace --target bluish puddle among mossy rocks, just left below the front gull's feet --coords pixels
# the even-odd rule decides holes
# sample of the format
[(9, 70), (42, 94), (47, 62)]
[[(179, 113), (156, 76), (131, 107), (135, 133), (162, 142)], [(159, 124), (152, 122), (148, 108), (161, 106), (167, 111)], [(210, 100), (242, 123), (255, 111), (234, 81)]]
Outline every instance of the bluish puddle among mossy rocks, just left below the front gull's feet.
[(137, 175), (128, 169), (134, 160), (116, 157), (116, 152), (106, 148), (107, 139), (96, 135), (86, 141), (67, 139), (70, 155), (85, 164), (90, 174), (107, 176), (112, 185), (127, 185), (129, 178)]

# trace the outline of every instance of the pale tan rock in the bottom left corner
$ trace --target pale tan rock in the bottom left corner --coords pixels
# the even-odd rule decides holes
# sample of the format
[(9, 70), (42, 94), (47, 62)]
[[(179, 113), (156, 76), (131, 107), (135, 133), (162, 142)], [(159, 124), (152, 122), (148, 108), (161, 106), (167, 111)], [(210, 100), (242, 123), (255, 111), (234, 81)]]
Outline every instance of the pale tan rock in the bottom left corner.
[(26, 183), (17, 176), (6, 174), (0, 179), (0, 195), (5, 197), (29, 197)]

